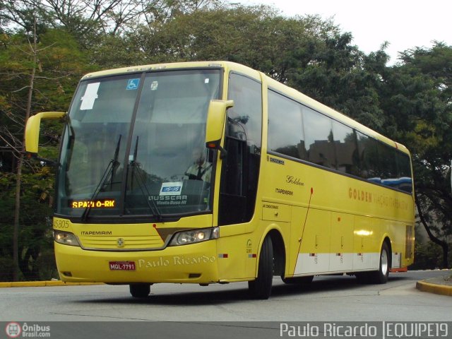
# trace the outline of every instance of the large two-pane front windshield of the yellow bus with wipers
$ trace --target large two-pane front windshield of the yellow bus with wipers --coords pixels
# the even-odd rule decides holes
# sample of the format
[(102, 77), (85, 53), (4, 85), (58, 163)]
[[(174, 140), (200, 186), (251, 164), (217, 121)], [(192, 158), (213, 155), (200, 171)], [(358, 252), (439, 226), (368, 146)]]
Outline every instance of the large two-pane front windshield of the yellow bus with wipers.
[(206, 213), (215, 155), (204, 145), (220, 69), (82, 81), (61, 145), (56, 212), (70, 217)]

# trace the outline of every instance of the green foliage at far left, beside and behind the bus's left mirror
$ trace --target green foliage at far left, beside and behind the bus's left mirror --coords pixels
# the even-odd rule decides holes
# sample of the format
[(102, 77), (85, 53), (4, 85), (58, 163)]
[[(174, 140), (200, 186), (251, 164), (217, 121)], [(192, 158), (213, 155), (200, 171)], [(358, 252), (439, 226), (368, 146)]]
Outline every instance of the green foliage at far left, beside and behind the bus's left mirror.
[[(76, 41), (64, 30), (47, 28), (41, 32), (36, 45), (21, 32), (4, 36), (3, 42), (3, 48), (0, 48), (0, 68), (5, 74), (0, 78), (0, 119), (3, 124), (0, 128), (0, 242), (4, 243), (1, 257), (11, 258), (16, 165), (23, 149), (23, 122), (30, 85), (34, 88), (32, 114), (46, 110), (65, 111), (81, 74), (85, 72), (85, 59)], [(61, 130), (60, 121), (43, 124), (40, 136), (43, 157), (57, 158)], [(22, 173), (18, 264), (21, 279), (34, 280), (44, 278), (40, 270), (40, 263), (44, 262), (42, 254), (53, 251), (49, 217), (52, 215), (54, 172), (39, 162), (27, 161)], [(45, 262), (45, 274), (50, 274), (50, 261), (46, 259)], [(8, 266), (4, 267), (1, 274), (8, 278)]]

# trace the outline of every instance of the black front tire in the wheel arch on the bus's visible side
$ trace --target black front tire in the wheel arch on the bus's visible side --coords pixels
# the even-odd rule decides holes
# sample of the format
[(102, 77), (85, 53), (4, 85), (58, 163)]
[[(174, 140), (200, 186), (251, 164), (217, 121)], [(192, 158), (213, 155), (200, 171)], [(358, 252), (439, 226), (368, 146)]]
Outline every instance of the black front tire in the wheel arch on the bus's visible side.
[(259, 256), (257, 278), (248, 282), (249, 294), (254, 299), (268, 299), (273, 283), (273, 244), (269, 236), (263, 239)]

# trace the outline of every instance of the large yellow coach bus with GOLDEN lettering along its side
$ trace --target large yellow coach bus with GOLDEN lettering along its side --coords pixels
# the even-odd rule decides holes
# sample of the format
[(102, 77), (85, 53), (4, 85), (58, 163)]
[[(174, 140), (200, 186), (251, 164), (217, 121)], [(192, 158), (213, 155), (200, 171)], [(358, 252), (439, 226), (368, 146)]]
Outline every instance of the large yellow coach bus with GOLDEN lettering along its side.
[(64, 118), (54, 249), (61, 280), (130, 285), (386, 283), (413, 263), (410, 153), (249, 67), (155, 64), (84, 76)]

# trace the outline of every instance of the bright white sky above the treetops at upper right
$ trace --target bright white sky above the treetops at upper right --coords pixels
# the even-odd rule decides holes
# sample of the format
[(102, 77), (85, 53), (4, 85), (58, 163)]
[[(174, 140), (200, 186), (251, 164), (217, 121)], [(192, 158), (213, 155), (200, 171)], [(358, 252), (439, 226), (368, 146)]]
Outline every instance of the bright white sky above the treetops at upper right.
[(450, 0), (238, 0), (244, 5), (266, 4), (286, 16), (319, 14), (333, 18), (343, 32), (351, 32), (352, 44), (369, 54), (383, 42), (389, 64), (398, 52), (414, 47), (431, 48), (434, 40), (452, 45)]

